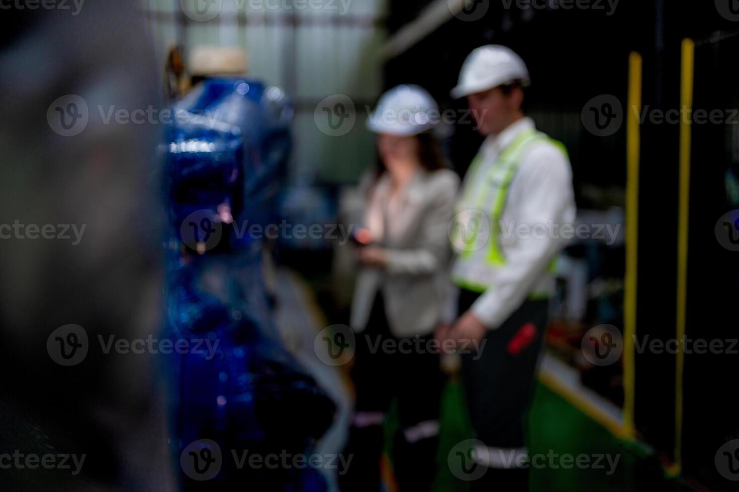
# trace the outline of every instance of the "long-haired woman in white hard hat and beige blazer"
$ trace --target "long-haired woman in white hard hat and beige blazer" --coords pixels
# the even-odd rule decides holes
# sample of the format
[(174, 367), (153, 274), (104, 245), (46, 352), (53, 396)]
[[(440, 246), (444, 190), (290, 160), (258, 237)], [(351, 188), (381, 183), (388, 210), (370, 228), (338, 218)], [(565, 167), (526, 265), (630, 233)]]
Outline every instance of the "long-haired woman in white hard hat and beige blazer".
[(399, 86), (367, 122), (378, 134), (381, 172), (369, 190), (367, 230), (357, 238), (364, 245), (351, 320), (356, 401), (344, 451), (353, 461), (341, 477), (344, 491), (379, 490), (384, 417), (395, 398), (401, 429), (392, 454), (401, 491), (428, 489), (435, 477), (443, 374), (430, 342), (441, 322), (459, 185), (431, 133), (435, 115), (428, 92)]

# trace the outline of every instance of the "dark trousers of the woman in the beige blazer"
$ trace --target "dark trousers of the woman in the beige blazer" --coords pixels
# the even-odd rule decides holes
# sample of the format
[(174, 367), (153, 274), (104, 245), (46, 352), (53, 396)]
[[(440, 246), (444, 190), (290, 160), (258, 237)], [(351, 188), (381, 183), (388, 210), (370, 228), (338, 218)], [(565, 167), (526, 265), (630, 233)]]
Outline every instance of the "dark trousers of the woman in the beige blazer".
[[(393, 438), (393, 468), (401, 491), (425, 491), (436, 475), (438, 417), (444, 376), (437, 353), (428, 350), (432, 337), (398, 339), (390, 333), (378, 294), (367, 329), (356, 337), (351, 375), (356, 388), (355, 419), (345, 455), (349, 470), (339, 477), (342, 491), (380, 490), (380, 458), (384, 448), (382, 415), (398, 402), (400, 429)], [(383, 342), (389, 340), (385, 350)], [(420, 350), (418, 349), (420, 347)], [(379, 420), (378, 420), (379, 417)]]

